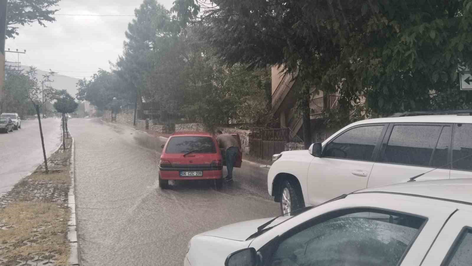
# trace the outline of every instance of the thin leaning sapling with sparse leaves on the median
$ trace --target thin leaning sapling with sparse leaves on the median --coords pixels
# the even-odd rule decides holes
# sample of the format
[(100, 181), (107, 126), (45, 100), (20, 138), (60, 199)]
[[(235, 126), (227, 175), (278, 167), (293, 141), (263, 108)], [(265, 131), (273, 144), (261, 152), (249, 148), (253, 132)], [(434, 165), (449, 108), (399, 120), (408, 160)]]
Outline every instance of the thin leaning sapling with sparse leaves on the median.
[[(48, 74), (43, 75), (43, 80), (49, 80), (51, 76), (53, 76), (55, 72), (50, 71)], [(39, 134), (41, 135), (41, 146), (42, 146), (42, 155), (44, 159), (44, 169), (48, 172), (48, 159), (46, 157), (46, 149), (44, 148), (44, 137), (42, 135), (42, 125), (41, 125), (41, 116), (40, 114), (40, 107), (43, 104), (44, 100), (51, 100), (55, 95), (55, 89), (52, 87), (46, 86), (45, 89), (40, 87), (40, 82), (36, 77), (36, 69), (34, 67), (30, 67), (28, 71), (26, 71), (26, 78), (28, 79), (27, 86), (22, 89), (26, 95), (26, 97), (31, 101), (36, 110), (36, 115), (38, 117), (38, 124), (39, 124)]]

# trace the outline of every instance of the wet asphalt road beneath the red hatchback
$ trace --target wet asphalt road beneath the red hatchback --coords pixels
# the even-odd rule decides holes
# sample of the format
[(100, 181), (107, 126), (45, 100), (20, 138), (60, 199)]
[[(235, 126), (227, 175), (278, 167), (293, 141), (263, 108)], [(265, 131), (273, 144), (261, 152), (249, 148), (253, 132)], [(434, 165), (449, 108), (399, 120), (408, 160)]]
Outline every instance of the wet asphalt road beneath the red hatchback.
[(267, 194), (267, 169), (244, 162), (219, 191), (207, 182), (160, 190), (162, 140), (100, 119), (72, 119), (69, 131), (84, 266), (182, 265), (195, 234), (280, 212)]

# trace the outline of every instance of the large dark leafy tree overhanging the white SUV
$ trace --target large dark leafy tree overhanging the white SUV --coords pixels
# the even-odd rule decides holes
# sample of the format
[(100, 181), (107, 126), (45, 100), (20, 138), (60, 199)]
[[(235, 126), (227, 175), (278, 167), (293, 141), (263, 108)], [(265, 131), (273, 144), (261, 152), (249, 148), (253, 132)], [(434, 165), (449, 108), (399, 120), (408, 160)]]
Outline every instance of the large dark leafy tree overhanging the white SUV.
[(471, 106), (452, 93), (457, 63), (472, 63), (471, 0), (177, 0), (172, 10), (182, 27), (202, 25), (200, 40), (228, 64), (298, 71), (308, 121), (312, 87), (337, 92), (345, 115)]

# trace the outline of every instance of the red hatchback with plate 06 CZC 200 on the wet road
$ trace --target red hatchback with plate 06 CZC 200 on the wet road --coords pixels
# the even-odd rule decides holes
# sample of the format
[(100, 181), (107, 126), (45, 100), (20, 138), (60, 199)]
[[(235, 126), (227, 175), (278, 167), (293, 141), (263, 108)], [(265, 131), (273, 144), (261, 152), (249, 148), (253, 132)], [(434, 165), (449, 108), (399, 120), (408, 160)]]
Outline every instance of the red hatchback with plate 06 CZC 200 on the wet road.
[(161, 148), (160, 188), (167, 188), (169, 180), (214, 180), (222, 186), (223, 158), (210, 133), (174, 133)]

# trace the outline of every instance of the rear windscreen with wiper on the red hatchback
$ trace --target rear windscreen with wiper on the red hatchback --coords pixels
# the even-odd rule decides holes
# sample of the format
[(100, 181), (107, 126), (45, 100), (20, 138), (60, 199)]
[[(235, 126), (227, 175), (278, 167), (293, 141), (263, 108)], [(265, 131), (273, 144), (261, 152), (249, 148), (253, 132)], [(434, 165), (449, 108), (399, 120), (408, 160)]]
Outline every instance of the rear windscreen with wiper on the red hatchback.
[(167, 144), (166, 153), (215, 153), (216, 147), (211, 137), (182, 136), (172, 137)]

